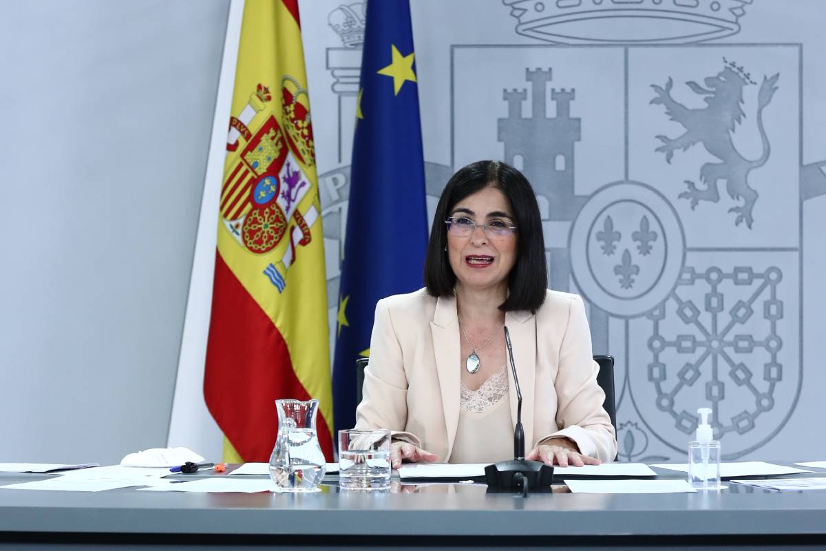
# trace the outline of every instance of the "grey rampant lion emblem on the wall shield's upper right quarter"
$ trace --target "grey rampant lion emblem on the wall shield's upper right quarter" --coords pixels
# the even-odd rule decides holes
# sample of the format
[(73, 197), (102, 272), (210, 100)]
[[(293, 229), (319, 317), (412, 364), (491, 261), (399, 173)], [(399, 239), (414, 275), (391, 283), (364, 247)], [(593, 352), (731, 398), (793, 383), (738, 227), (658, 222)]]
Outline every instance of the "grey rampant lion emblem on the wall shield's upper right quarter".
[(772, 77), (763, 76), (760, 91), (757, 94), (757, 128), (762, 140), (762, 154), (758, 159), (749, 160), (734, 147), (731, 133), (740, 124), (745, 116), (743, 108), (743, 88), (748, 84), (756, 84), (750, 75), (737, 64), (724, 61), (724, 69), (713, 77), (705, 78), (705, 88), (691, 81), (686, 86), (694, 93), (705, 96), (706, 107), (689, 109), (676, 102), (671, 96), (672, 78), (668, 78), (665, 88), (652, 85), (657, 96), (651, 103), (662, 104), (666, 107), (666, 115), (672, 121), (679, 122), (686, 132), (674, 139), (665, 135), (657, 135), (662, 145), (656, 151), (666, 155), (670, 164), (675, 150), (687, 150), (691, 145), (702, 144), (705, 150), (719, 159), (720, 163), (706, 163), (700, 168), (700, 180), (705, 188), (697, 188), (694, 182), (686, 180), (688, 191), (680, 194), (681, 198), (691, 200), (693, 210), (700, 201), (719, 202), (719, 180), (726, 183), (726, 191), (735, 200), (743, 199), (743, 206), (735, 206), (729, 212), (736, 212), (734, 225), (745, 222), (752, 227), (752, 209), (757, 202), (757, 191), (748, 185), (748, 174), (766, 164), (770, 146), (766, 131), (763, 128), (762, 112), (771, 102), (771, 97), (777, 90), (775, 86), (780, 74)]

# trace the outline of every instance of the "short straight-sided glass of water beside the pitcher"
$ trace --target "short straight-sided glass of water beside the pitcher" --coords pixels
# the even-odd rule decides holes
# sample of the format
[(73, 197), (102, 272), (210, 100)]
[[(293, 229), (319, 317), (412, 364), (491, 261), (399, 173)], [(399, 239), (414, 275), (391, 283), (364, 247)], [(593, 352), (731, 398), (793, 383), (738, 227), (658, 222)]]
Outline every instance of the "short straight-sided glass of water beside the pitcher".
[(346, 490), (390, 487), (389, 430), (339, 430), (339, 487)]

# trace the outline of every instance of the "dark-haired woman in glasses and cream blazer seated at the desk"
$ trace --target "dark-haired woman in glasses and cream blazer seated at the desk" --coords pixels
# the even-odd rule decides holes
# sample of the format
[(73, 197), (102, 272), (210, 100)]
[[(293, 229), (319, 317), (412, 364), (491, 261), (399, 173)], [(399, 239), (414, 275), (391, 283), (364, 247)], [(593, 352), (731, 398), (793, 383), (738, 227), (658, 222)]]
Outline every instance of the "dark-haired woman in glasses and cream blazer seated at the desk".
[(436, 207), (425, 288), (377, 303), (357, 428), (393, 431), (392, 464), (513, 457), (522, 390), (526, 458), (582, 466), (616, 454), (582, 299), (546, 289), (539, 207), (496, 161), (453, 174)]

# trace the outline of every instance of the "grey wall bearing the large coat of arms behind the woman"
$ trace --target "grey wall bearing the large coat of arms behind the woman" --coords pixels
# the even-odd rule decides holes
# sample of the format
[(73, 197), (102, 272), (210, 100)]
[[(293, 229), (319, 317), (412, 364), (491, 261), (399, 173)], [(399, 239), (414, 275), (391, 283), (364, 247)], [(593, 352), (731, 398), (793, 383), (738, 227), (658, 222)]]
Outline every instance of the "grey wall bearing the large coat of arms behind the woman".
[[(331, 316), (361, 59), (352, 38), (363, 25), (356, 2), (342, 3), (301, 4)], [(812, 435), (826, 387), (826, 2), (416, 0), (411, 9), (428, 204), (473, 160), (524, 169), (544, 219), (548, 285), (582, 294), (595, 352), (617, 359), (619, 458), (686, 461), (700, 406), (714, 408), (727, 460), (823, 458), (826, 439)], [(729, 132), (714, 121), (729, 119), (704, 112), (711, 94), (687, 83), (712, 86), (727, 61), (755, 83), (743, 86), (737, 151), (719, 158), (710, 150)], [(775, 74), (763, 113), (771, 153), (743, 182), (733, 177), (761, 157), (759, 90)], [(652, 85), (669, 78), (699, 134), (671, 163), (657, 135), (686, 128), (651, 103)], [(705, 188), (706, 165), (717, 165), (719, 198), (692, 209), (686, 180)], [(759, 194), (751, 226), (729, 211), (749, 189)], [(648, 231), (657, 241), (643, 252), (635, 235)], [(613, 254), (601, 246), (609, 234), (624, 240)]]

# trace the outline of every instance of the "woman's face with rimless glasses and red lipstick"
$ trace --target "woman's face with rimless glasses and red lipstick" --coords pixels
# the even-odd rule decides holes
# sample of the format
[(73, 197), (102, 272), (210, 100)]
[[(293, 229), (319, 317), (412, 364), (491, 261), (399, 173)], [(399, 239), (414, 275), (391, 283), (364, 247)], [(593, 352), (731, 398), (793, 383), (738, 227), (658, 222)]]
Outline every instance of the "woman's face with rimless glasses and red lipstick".
[[(484, 188), (465, 197), (449, 213), (453, 216), (448, 231), (448, 259), (458, 283), (476, 289), (507, 286), (508, 273), (516, 263), (516, 234), (495, 235), (482, 225), (507, 228), (515, 226), (510, 203), (496, 188)], [(470, 222), (478, 226), (473, 228)], [(458, 231), (473, 228), (470, 235)]]

